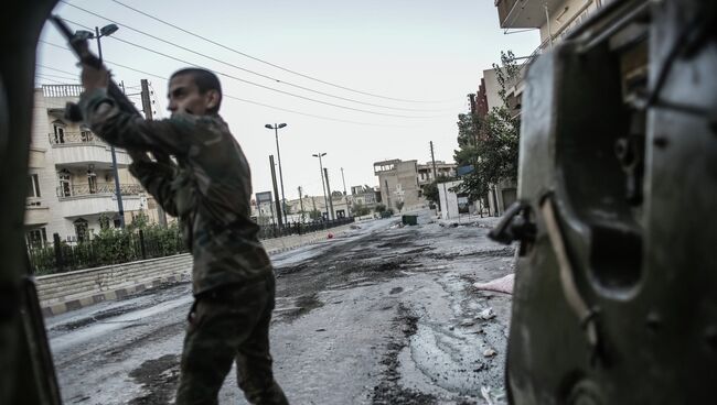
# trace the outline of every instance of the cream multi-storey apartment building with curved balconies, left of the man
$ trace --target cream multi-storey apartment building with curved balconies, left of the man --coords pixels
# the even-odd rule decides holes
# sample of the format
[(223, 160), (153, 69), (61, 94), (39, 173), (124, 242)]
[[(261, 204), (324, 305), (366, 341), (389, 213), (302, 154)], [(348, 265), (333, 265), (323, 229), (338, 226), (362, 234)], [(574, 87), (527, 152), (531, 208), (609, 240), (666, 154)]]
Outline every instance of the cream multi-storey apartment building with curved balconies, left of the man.
[[(29, 245), (51, 242), (53, 233), (83, 241), (106, 225), (120, 226), (110, 146), (64, 118), (65, 105), (82, 91), (79, 85), (35, 89), (24, 220)], [(131, 158), (115, 151), (126, 223), (140, 214), (157, 221), (154, 200), (127, 171)]]

